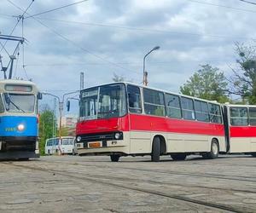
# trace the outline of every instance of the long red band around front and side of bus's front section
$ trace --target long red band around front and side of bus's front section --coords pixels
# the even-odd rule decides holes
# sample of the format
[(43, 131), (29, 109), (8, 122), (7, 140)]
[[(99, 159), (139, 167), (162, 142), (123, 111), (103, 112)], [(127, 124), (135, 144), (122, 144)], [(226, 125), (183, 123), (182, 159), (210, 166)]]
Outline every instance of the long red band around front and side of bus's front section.
[[(129, 125), (130, 118), (130, 125)], [(129, 114), (123, 118), (88, 120), (77, 124), (77, 135), (108, 131), (160, 131), (198, 135), (224, 136), (223, 124), (212, 124), (175, 118)]]

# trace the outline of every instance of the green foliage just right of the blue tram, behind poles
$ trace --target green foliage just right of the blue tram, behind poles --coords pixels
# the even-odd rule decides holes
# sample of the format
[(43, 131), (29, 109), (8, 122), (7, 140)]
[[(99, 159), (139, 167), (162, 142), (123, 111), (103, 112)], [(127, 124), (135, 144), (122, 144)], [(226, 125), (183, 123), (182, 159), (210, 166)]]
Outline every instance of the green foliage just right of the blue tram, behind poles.
[(53, 126), (56, 126), (54, 112), (45, 109), (39, 117), (39, 149), (40, 154), (44, 155), (45, 141), (53, 136)]

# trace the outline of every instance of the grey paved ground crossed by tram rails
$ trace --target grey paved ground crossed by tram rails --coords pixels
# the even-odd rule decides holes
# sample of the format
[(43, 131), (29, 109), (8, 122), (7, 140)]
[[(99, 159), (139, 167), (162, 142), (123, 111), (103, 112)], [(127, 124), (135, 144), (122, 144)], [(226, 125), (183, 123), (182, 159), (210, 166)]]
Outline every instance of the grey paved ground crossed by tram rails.
[(0, 212), (256, 212), (256, 158), (0, 162)]

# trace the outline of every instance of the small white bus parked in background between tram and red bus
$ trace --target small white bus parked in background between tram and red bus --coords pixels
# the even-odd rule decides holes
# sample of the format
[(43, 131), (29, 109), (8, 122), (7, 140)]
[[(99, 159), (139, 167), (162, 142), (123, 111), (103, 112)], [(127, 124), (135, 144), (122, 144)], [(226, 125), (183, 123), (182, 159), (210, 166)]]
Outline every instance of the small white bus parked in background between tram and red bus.
[(49, 138), (45, 142), (45, 154), (51, 155), (60, 153), (61, 154), (76, 154), (76, 147), (74, 144), (74, 137), (63, 136), (61, 141), (59, 137)]

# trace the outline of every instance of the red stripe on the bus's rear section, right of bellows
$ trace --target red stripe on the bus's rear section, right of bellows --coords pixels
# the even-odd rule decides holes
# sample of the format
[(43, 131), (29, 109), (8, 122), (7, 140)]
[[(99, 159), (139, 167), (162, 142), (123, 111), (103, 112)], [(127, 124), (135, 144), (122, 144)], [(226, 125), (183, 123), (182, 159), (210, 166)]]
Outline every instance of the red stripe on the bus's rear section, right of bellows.
[(256, 126), (230, 126), (230, 137), (256, 137)]

